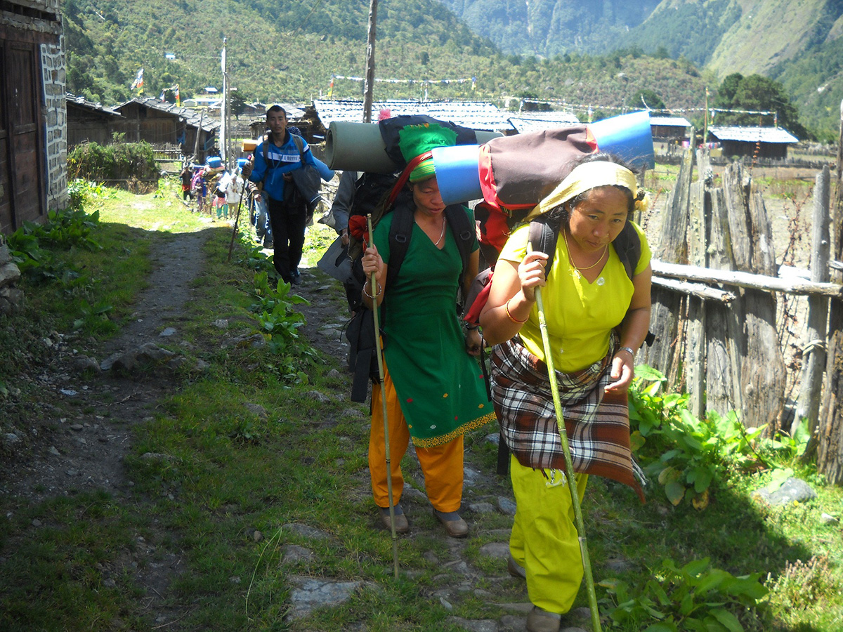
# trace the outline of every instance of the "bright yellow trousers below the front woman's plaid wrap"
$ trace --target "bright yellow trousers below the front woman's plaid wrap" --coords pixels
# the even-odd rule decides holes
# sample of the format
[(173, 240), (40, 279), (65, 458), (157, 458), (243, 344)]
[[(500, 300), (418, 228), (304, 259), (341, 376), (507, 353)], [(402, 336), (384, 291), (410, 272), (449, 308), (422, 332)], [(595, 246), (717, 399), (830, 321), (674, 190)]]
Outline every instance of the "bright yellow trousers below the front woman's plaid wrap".
[[(568, 612), (583, 581), (583, 558), (571, 492), (560, 470), (525, 468), (514, 456), (510, 463), (515, 511), (509, 552), (527, 571), (527, 594), (534, 605), (551, 613)], [(585, 494), (588, 474), (576, 474), (577, 495)]]

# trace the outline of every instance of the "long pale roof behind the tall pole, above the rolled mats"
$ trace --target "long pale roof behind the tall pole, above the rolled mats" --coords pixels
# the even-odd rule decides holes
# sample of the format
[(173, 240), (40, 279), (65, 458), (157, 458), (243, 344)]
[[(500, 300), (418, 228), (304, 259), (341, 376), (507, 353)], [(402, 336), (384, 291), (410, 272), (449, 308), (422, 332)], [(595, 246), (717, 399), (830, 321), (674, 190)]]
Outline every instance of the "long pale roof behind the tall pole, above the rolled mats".
[[(314, 100), (319, 121), (330, 126), (333, 121), (360, 123), (363, 120), (363, 102), (354, 100)], [(375, 101), (372, 104), (373, 118), (379, 110), (388, 109), (393, 116), (427, 115), (439, 121), (450, 121), (473, 130), (511, 131), (507, 112), (491, 103), (481, 101), (421, 101), (415, 99)]]

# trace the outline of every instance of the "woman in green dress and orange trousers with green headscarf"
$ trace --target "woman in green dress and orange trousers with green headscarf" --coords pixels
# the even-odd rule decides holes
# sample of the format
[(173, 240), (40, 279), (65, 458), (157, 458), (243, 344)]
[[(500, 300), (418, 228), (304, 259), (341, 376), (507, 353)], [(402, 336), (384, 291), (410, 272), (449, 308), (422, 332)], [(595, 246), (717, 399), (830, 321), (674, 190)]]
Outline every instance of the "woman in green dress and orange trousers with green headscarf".
[[(421, 130), (418, 135), (408, 131), (402, 137), (402, 151), (412, 158), (431, 147), (454, 144), (448, 132), (453, 134), (435, 128)], [(446, 221), (432, 160), (420, 163), (411, 172), (408, 187), (412, 199), (400, 203), (410, 206), (414, 224), (392, 285), (385, 287), (389, 227), (395, 211), (380, 220), (372, 244), (362, 257), (367, 276), (363, 302), (370, 308), (381, 306), (385, 373), (384, 383), (372, 388), (369, 471), (381, 521), (390, 528), (381, 401), (385, 397), (395, 530), (405, 533), (409, 528), (399, 504), (404, 485), (400, 460), (412, 440), (433, 514), (448, 535), (462, 538), (468, 534), (468, 524), (459, 515), (463, 435), (495, 419), (475, 358), (480, 351), (480, 335), (476, 329), (463, 329), (455, 308), (460, 274), (467, 290), (477, 272), (479, 250), (475, 240), (467, 269), (462, 270), (462, 257)], [(462, 210), (473, 226), (473, 214), (467, 208)]]

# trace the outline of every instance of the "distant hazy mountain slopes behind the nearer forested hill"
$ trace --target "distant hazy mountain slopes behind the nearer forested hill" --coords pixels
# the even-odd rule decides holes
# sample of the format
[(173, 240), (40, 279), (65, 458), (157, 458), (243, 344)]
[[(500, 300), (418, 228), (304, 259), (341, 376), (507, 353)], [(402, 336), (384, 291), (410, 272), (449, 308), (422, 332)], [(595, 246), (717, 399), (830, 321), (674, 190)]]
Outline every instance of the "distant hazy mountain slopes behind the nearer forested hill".
[(688, 59), (711, 83), (760, 73), (787, 87), (805, 125), (836, 136), (843, 0), (438, 1), (508, 54), (638, 48)]

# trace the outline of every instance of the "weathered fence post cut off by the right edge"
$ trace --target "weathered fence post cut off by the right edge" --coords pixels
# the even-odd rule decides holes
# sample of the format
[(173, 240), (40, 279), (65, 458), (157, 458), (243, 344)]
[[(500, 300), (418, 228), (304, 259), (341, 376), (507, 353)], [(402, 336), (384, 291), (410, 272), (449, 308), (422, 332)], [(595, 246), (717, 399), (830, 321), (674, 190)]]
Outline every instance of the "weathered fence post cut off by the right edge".
[[(843, 259), (843, 101), (840, 101), (840, 138), (837, 145), (837, 195), (835, 197), (835, 259)], [(841, 281), (835, 272), (834, 281)], [(817, 469), (833, 485), (843, 484), (843, 301), (831, 302), (829, 318), (827, 386), (818, 427)]]

